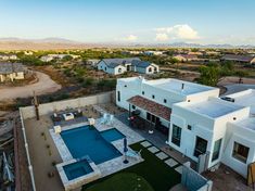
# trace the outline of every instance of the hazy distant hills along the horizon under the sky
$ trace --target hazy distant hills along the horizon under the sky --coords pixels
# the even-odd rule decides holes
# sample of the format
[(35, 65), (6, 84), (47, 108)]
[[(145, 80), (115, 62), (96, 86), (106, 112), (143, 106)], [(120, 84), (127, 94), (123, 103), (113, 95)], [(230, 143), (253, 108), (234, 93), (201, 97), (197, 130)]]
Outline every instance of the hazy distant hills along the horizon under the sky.
[(21, 39), (21, 38), (0, 38), (0, 50), (61, 50), (61, 49), (87, 49), (102, 47), (136, 47), (136, 48), (217, 48), (217, 49), (255, 49), (255, 46), (243, 44), (200, 44), (200, 43), (85, 43), (64, 38), (44, 39)]

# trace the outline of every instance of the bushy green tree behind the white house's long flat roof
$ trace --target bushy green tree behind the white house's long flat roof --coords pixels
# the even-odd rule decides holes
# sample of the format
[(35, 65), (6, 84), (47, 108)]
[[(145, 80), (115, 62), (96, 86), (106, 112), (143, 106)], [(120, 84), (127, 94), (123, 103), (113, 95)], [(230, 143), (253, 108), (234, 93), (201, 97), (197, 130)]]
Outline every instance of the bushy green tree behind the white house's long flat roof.
[(214, 66), (214, 65), (201, 66), (200, 73), (201, 73), (201, 76), (199, 78), (199, 82), (201, 82), (202, 85), (207, 85), (207, 86), (217, 85), (219, 77), (220, 77), (218, 66)]

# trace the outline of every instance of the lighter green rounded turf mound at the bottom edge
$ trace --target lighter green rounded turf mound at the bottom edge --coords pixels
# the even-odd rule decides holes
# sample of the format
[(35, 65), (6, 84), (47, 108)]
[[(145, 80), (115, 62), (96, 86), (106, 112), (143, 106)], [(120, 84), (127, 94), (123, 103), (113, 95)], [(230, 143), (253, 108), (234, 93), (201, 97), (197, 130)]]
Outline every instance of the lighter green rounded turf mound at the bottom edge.
[(131, 173), (119, 173), (86, 191), (154, 191), (148, 181)]

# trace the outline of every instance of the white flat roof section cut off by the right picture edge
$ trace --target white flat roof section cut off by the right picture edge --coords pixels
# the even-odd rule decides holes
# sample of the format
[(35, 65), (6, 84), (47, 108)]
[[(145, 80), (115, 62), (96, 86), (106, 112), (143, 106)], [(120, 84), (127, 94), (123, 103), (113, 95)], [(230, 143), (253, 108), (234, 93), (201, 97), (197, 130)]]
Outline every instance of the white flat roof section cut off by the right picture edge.
[(255, 114), (255, 90), (248, 89), (233, 94), (226, 96), (234, 99), (234, 103), (243, 106), (251, 106), (251, 113)]

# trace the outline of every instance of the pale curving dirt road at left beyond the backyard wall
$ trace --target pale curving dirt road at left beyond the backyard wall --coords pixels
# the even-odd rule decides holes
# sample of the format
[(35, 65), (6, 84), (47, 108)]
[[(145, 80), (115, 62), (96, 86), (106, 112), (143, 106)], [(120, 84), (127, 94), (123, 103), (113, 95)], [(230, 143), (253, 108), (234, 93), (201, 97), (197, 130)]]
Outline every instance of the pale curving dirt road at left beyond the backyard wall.
[(33, 85), (27, 85), (23, 87), (8, 87), (0, 88), (0, 101), (7, 99), (16, 99), (16, 98), (27, 98), (31, 97), (33, 92), (36, 91), (37, 94), (51, 93), (61, 89), (61, 85), (53, 81), (50, 76), (35, 72), (38, 81)]

